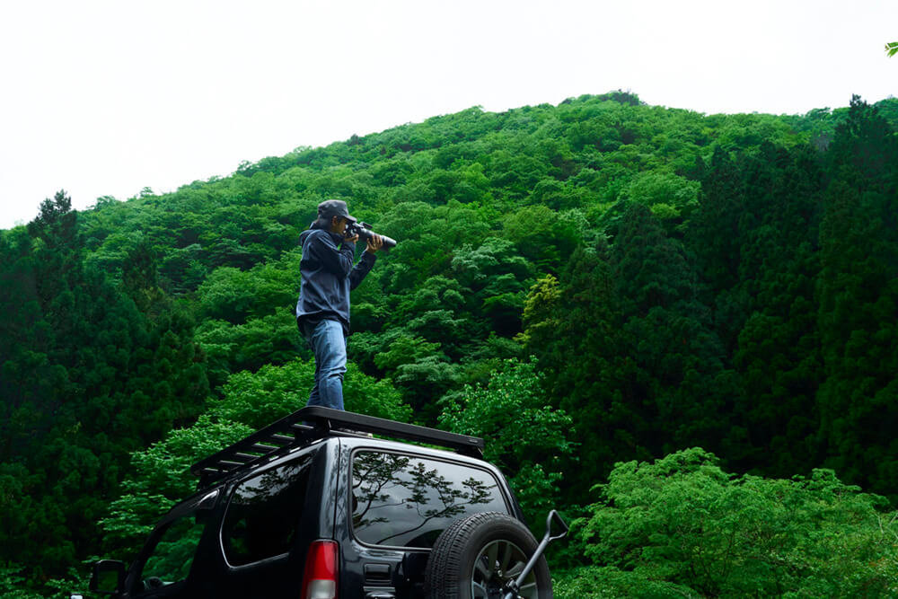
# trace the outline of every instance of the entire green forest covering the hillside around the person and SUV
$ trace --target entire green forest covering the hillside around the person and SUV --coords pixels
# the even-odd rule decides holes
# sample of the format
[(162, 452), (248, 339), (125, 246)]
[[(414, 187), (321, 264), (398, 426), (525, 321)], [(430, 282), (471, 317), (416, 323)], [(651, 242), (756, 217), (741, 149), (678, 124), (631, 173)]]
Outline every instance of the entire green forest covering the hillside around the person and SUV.
[[(0, 595), (86, 590), (304, 406), (299, 233), (398, 245), (347, 410), (483, 436), (562, 598), (898, 594), (898, 100), (474, 107), (0, 232)], [(67, 596), (67, 595), (66, 595)]]

